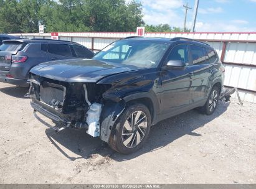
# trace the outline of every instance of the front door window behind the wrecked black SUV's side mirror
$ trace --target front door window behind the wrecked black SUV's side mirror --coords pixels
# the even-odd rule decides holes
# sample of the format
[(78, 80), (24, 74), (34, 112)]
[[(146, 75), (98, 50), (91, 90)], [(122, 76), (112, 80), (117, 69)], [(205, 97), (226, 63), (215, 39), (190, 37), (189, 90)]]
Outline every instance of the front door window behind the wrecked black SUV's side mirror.
[(176, 45), (173, 47), (166, 59), (166, 63), (169, 60), (181, 60), (184, 64), (189, 65), (187, 45)]

